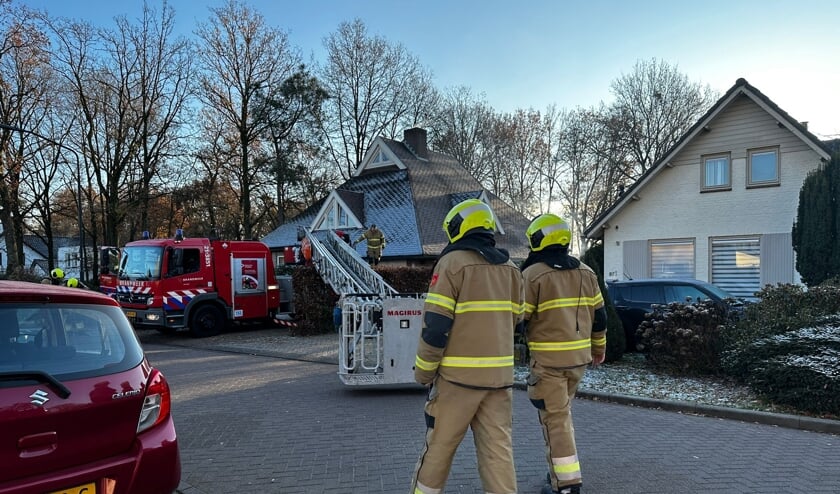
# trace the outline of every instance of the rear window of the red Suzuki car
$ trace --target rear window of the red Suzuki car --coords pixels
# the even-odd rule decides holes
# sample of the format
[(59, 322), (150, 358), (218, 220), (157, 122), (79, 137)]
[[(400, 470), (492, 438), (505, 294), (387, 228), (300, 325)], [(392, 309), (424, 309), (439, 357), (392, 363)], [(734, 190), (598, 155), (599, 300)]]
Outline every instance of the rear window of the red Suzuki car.
[(122, 372), (142, 359), (119, 307), (0, 304), (0, 372), (41, 371), (79, 379)]

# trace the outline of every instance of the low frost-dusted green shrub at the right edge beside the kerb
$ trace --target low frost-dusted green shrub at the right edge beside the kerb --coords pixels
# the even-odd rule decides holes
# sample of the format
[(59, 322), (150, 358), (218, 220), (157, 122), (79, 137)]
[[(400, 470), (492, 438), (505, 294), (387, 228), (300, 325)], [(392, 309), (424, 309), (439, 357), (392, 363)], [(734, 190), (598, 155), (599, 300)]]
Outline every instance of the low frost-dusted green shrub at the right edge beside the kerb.
[(840, 315), (759, 338), (737, 357), (730, 372), (771, 402), (840, 414)]

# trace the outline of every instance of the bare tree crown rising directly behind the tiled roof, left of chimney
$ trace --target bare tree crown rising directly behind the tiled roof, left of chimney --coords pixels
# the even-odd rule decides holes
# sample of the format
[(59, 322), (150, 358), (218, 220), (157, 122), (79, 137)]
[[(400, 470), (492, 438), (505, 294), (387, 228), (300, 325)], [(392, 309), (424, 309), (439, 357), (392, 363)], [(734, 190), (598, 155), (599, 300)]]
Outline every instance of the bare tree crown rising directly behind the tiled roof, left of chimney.
[(345, 177), (361, 164), (370, 143), (398, 137), (433, 109), (431, 74), (402, 45), (369, 35), (360, 20), (343, 22), (324, 40), (320, 79), (330, 95), (322, 129), (333, 162)]

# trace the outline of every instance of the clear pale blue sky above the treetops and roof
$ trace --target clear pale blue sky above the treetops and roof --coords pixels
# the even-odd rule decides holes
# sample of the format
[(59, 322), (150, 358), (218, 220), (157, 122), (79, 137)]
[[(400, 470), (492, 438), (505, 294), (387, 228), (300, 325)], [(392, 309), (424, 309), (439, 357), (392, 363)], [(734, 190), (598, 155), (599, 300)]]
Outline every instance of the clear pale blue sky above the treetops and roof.
[[(21, 1), (21, 0), (18, 0)], [(159, 5), (158, 0), (149, 0)], [(111, 25), (140, 0), (22, 0)], [(835, 0), (250, 0), (306, 59), (342, 21), (404, 45), (438, 87), (466, 85), (497, 110), (588, 107), (639, 59), (657, 58), (720, 93), (744, 77), (819, 137), (840, 137), (840, 2)], [(224, 0), (169, 0), (191, 35)]]

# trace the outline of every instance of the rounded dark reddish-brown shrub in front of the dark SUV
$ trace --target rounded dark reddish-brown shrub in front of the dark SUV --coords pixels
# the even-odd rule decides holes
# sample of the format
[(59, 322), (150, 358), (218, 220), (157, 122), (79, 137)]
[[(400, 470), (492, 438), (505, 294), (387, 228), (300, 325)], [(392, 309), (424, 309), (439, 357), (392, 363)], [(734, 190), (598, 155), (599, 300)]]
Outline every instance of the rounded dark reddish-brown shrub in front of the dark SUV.
[(721, 335), (734, 317), (710, 300), (657, 305), (639, 325), (636, 340), (659, 368), (681, 374), (718, 374)]

